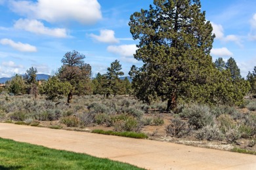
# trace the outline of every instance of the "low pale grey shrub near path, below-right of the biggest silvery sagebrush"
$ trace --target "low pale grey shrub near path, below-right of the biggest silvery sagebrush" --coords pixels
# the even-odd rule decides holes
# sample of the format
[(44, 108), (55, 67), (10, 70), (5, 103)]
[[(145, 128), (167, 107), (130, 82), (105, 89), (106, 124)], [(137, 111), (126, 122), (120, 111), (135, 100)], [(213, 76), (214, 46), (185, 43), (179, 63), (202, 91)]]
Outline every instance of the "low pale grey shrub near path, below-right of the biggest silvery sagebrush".
[(207, 141), (219, 140), (222, 141), (224, 139), (223, 133), (221, 133), (219, 127), (217, 125), (207, 125), (202, 129), (196, 131), (196, 138)]

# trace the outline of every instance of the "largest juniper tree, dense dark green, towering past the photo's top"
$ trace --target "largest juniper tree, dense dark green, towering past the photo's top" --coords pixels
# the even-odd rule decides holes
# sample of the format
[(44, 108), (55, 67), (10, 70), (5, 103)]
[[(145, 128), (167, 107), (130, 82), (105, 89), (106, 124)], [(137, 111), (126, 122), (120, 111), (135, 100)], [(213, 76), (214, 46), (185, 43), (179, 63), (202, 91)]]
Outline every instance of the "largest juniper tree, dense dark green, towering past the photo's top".
[(179, 100), (209, 101), (215, 36), (200, 9), (199, 0), (154, 0), (150, 9), (131, 15), (131, 34), (140, 41), (134, 56), (144, 63), (130, 74), (139, 99), (161, 97), (167, 110)]

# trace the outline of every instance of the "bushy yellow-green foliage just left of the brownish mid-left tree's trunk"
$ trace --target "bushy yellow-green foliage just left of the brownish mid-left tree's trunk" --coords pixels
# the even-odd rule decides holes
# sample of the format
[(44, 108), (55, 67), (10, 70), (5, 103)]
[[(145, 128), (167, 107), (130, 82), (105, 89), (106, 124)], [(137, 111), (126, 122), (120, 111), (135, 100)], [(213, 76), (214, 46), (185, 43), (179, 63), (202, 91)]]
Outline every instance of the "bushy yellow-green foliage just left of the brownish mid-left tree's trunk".
[(47, 96), (47, 99), (56, 101), (56, 99), (62, 99), (63, 95), (68, 95), (72, 90), (72, 85), (69, 82), (60, 82), (56, 76), (53, 76), (41, 85), (40, 90)]

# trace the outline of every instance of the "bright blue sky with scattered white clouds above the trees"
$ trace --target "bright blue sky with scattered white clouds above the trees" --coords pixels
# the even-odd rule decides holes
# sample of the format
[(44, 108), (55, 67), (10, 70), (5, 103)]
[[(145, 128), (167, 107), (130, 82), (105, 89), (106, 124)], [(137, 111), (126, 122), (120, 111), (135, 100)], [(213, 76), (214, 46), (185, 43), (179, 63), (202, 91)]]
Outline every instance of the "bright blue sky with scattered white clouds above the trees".
[[(232, 57), (246, 77), (256, 66), (256, 1), (201, 0), (213, 26), (213, 61)], [(0, 77), (24, 74), (30, 67), (54, 75), (66, 52), (85, 55), (92, 76), (119, 60), (125, 76), (137, 50), (130, 33), (133, 12), (153, 0), (0, 0)]]

